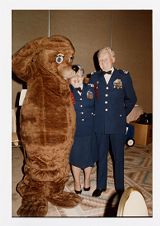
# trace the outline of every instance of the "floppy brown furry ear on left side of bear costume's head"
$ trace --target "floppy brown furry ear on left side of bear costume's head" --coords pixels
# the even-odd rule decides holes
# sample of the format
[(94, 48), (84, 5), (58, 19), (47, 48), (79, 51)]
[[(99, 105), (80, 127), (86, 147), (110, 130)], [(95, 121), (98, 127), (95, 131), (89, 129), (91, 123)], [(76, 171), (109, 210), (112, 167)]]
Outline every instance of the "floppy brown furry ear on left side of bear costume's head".
[(46, 38), (38, 38), (28, 42), (12, 57), (12, 70), (17, 77), (27, 82), (34, 69), (33, 58), (40, 51), (40, 43)]

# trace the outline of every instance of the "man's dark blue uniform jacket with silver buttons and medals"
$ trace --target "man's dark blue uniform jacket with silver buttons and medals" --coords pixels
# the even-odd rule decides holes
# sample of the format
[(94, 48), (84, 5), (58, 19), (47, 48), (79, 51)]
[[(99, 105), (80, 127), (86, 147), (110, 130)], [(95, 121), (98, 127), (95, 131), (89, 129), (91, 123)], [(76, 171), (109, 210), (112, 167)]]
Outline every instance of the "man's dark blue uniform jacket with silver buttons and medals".
[[(117, 83), (117, 85), (115, 84)], [(102, 134), (125, 133), (126, 116), (136, 103), (130, 74), (114, 69), (107, 84), (102, 71), (90, 80), (95, 88), (95, 132)]]

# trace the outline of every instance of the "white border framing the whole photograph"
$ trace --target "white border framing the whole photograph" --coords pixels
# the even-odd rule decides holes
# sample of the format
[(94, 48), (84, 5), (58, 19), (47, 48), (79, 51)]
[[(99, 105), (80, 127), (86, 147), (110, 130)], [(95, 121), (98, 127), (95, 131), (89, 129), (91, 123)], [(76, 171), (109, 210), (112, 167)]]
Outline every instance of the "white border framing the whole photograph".
[[(12, 217), (12, 150), (11, 150), (11, 49), (12, 10), (23, 9), (148, 9), (153, 12), (153, 217), (151, 218), (14, 218)], [(0, 7), (0, 90), (1, 158), (0, 158), (0, 224), (5, 226), (34, 225), (118, 225), (158, 226), (160, 222), (160, 3), (149, 0), (6, 0)], [(145, 41), (145, 40), (144, 40)]]

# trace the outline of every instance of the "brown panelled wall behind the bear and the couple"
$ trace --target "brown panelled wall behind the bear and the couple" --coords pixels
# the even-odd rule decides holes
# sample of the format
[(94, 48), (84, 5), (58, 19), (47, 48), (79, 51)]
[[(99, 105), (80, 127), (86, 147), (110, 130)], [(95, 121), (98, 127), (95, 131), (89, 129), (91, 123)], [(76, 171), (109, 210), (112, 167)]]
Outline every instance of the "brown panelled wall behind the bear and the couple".
[[(112, 45), (116, 67), (129, 70), (144, 111), (152, 112), (152, 11), (51, 10), (51, 35), (67, 36), (75, 46), (74, 63), (85, 73), (95, 70), (94, 53)], [(12, 15), (12, 51), (31, 39), (48, 35), (47, 10), (15, 10)], [(12, 106), (21, 85), (13, 81)]]

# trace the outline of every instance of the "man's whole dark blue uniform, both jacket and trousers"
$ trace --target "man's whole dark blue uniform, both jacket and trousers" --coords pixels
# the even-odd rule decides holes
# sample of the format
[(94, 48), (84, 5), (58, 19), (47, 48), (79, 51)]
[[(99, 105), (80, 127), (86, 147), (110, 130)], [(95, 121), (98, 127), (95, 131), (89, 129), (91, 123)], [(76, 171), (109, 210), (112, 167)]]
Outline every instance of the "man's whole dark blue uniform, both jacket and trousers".
[[(115, 87), (119, 80), (122, 87)], [(136, 95), (130, 74), (114, 69), (108, 82), (102, 71), (95, 72), (90, 80), (95, 89), (95, 124), (98, 164), (97, 188), (107, 185), (107, 156), (113, 157), (114, 182), (117, 191), (124, 189), (124, 145), (126, 116), (136, 103)]]

